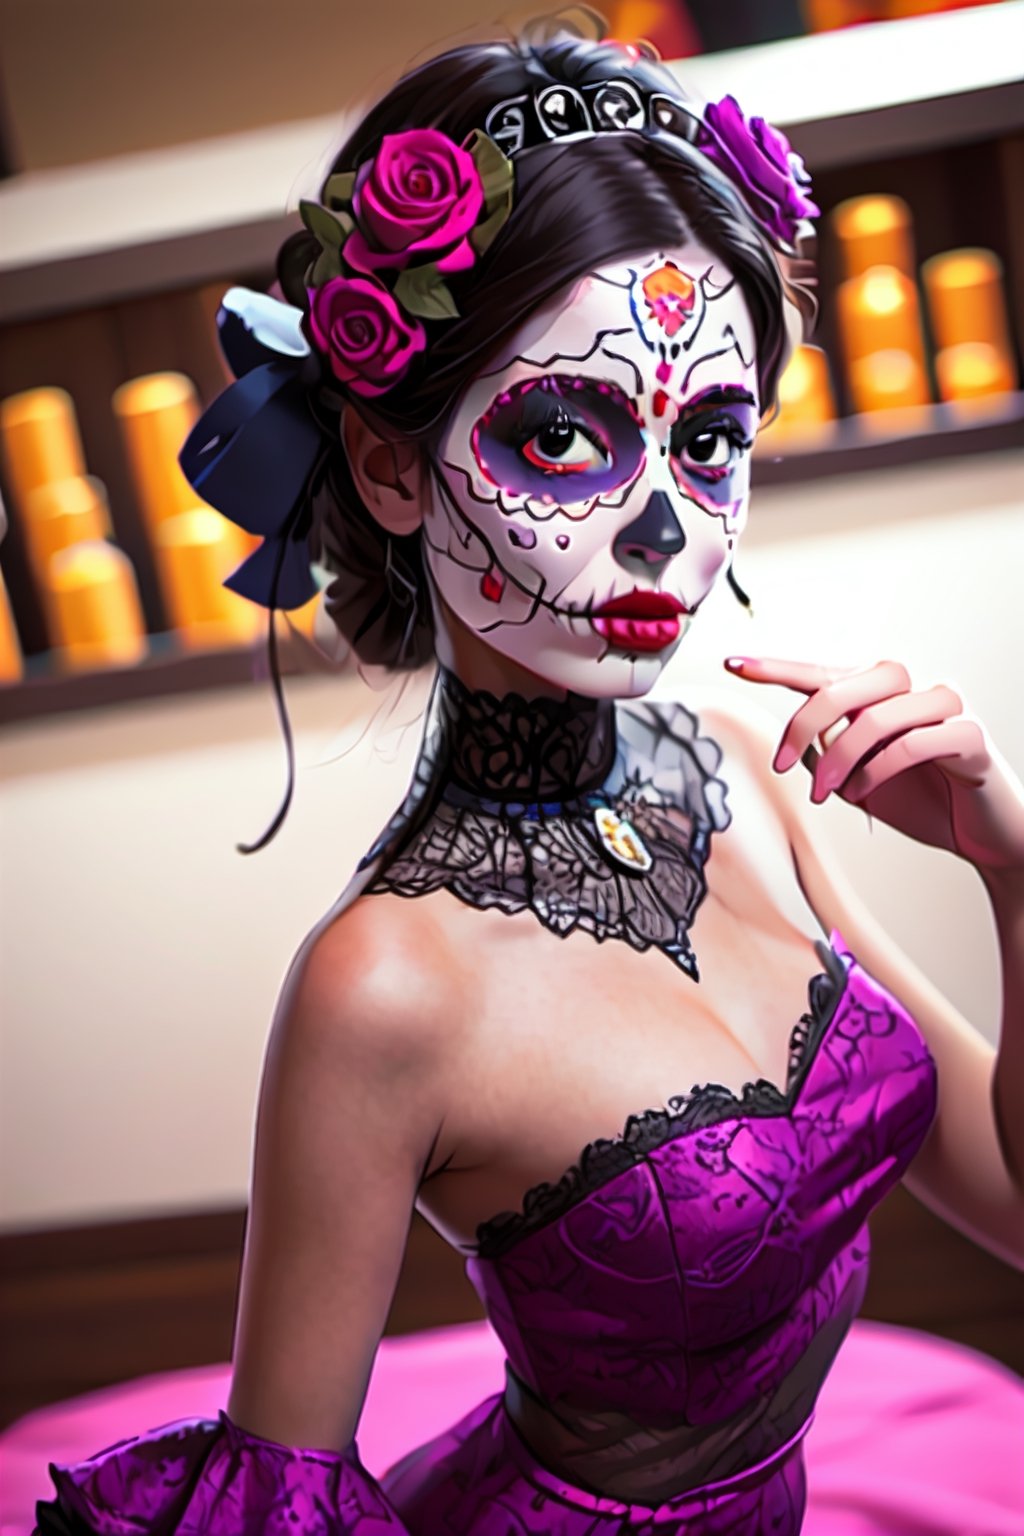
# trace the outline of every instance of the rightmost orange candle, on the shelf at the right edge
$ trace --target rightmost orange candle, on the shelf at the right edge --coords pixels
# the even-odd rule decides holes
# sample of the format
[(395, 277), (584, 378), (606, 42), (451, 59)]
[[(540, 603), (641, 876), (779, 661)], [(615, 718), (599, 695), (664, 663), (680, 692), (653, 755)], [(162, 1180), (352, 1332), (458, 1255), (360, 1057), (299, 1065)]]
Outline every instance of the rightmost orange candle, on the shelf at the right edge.
[(921, 267), (938, 355), (943, 399), (970, 399), (1016, 389), (1016, 362), (993, 250), (944, 250)]

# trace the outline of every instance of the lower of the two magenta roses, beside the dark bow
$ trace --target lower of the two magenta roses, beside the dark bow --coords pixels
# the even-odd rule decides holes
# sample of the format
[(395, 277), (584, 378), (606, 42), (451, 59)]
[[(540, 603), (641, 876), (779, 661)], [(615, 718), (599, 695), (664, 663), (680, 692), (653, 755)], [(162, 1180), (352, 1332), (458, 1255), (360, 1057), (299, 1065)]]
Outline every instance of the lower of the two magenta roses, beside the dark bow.
[(408, 372), (427, 333), (372, 278), (332, 278), (309, 289), (310, 330), (335, 378), (353, 395), (384, 395)]

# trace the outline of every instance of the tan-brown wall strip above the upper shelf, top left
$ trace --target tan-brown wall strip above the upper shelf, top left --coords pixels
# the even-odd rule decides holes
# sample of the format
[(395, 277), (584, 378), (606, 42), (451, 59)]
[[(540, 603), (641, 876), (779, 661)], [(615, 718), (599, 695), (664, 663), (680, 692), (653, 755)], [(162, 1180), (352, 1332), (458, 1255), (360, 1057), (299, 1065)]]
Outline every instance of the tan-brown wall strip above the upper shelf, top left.
[(0, 0), (15, 169), (81, 164), (373, 100), (502, 0)]

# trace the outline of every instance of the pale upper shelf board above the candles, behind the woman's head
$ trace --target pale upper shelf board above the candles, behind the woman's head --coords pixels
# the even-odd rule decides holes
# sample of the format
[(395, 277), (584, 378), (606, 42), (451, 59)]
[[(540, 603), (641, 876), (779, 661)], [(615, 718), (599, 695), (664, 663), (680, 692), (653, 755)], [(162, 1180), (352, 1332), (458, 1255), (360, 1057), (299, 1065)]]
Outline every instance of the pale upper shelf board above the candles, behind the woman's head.
[[(785, 127), (817, 170), (1024, 127), (1024, 0), (738, 48), (669, 65)], [(341, 115), (0, 186), (0, 323), (272, 270)]]

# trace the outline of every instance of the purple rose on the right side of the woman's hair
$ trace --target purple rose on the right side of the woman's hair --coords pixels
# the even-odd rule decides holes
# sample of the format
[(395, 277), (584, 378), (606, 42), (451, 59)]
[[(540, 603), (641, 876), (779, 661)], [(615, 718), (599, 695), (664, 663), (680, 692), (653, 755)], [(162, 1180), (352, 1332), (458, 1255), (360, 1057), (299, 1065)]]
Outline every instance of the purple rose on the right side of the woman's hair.
[(821, 210), (809, 197), (811, 177), (786, 135), (763, 117), (748, 121), (735, 97), (708, 103), (703, 121), (703, 154), (729, 177), (768, 232), (794, 246), (797, 224)]

